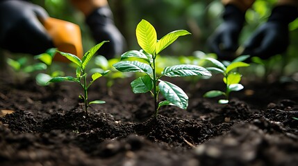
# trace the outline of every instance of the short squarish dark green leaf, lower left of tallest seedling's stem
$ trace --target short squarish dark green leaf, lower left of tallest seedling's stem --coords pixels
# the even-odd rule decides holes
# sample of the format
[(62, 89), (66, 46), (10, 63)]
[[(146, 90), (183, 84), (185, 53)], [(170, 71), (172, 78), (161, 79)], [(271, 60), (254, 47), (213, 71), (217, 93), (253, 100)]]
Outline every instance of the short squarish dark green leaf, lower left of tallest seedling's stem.
[(131, 82), (133, 93), (146, 93), (148, 91), (151, 91), (153, 86), (153, 82), (149, 75), (138, 77), (137, 79), (133, 80), (133, 82)]

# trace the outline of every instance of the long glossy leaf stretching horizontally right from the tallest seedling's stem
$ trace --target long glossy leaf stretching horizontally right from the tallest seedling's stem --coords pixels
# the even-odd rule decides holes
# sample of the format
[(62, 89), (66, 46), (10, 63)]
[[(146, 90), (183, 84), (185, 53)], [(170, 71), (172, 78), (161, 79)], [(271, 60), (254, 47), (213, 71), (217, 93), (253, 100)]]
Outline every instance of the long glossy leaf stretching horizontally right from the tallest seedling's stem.
[(206, 68), (193, 64), (179, 64), (166, 67), (162, 75), (167, 77), (185, 77), (193, 75), (211, 76), (211, 73)]

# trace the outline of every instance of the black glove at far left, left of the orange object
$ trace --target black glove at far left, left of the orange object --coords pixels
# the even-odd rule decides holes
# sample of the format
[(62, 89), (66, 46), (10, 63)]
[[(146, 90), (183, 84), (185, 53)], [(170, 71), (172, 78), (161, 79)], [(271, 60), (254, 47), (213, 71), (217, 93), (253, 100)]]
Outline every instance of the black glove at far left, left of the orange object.
[(53, 47), (40, 21), (48, 17), (40, 6), (26, 1), (0, 1), (0, 47), (37, 55)]

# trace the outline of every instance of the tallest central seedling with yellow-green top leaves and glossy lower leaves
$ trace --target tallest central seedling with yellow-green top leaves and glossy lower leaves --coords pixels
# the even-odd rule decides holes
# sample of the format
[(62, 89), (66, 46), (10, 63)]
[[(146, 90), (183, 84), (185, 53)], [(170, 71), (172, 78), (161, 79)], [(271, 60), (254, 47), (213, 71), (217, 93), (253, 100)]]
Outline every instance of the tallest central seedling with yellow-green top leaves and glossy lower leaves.
[[(190, 35), (190, 33), (186, 30), (175, 30), (172, 33), (168, 33), (160, 40), (157, 40), (154, 26), (143, 19), (136, 28), (136, 37), (142, 50), (129, 50), (121, 55), (120, 62), (113, 65), (118, 71), (144, 73), (143, 76), (131, 82), (131, 87), (133, 93), (151, 92), (154, 97), (155, 118), (157, 118), (158, 109), (161, 106), (175, 105), (181, 109), (188, 107), (188, 95), (178, 86), (160, 80), (160, 77), (211, 75), (209, 71), (201, 66), (188, 64), (167, 66), (164, 68), (161, 75), (156, 74), (156, 56), (178, 37), (184, 35)], [(128, 60), (131, 57), (133, 57), (133, 61)], [(159, 93), (163, 95), (165, 100), (158, 103)]]

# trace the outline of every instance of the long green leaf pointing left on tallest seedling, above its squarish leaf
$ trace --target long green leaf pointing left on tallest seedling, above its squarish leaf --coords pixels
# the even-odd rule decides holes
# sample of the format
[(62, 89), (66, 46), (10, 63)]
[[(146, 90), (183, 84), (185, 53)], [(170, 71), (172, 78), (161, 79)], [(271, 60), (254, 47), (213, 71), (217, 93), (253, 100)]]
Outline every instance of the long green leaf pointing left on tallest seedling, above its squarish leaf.
[(153, 72), (152, 68), (148, 64), (144, 64), (138, 61), (121, 61), (113, 64), (113, 66), (118, 71), (122, 72), (141, 72), (147, 74), (151, 74)]

